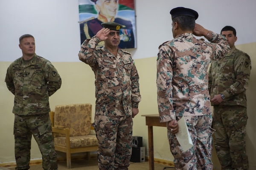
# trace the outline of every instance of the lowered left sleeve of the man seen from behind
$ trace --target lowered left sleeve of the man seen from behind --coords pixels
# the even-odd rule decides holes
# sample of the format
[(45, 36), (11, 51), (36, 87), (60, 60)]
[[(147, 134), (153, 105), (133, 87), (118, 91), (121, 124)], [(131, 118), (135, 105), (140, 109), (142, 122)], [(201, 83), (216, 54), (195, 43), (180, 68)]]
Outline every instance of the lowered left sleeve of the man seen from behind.
[(176, 120), (172, 101), (172, 49), (161, 46), (157, 55), (157, 104), (160, 122)]

